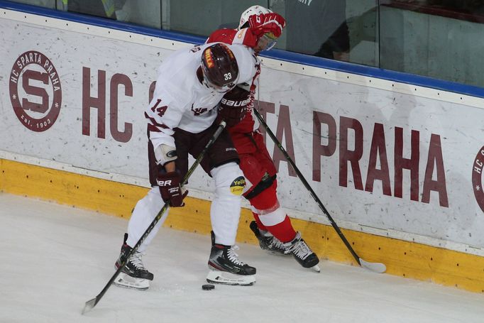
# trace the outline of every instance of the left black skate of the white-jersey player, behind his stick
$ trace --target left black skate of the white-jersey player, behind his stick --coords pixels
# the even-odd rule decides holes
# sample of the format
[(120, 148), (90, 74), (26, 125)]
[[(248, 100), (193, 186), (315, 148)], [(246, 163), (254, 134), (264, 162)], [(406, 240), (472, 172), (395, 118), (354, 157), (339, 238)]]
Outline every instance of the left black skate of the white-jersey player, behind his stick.
[[(121, 267), (121, 264), (126, 261), (126, 255), (128, 255), (128, 253), (131, 251), (131, 247), (126, 244), (127, 239), (128, 234), (124, 234), (121, 253), (119, 254), (119, 258), (115, 263), (116, 269)], [(150, 287), (150, 280), (153, 280), (153, 274), (146, 270), (145, 266), (143, 265), (143, 261), (141, 260), (142, 256), (143, 253), (138, 251), (133, 253), (133, 256), (131, 256), (126, 265), (124, 265), (123, 269), (121, 269), (121, 273), (119, 273), (118, 277), (116, 277), (116, 280), (114, 280), (114, 285), (137, 290), (146, 290), (148, 287)]]

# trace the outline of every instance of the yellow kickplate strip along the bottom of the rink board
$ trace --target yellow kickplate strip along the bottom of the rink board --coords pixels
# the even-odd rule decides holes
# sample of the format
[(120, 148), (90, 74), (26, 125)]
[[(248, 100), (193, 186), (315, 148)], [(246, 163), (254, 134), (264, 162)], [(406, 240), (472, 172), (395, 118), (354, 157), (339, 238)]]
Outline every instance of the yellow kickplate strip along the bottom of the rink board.
[[(124, 218), (129, 217), (138, 199), (148, 192), (146, 187), (12, 160), (0, 159), (0, 170), (0, 190), (3, 192), (38, 197)], [(164, 226), (209, 234), (209, 209), (207, 200), (187, 197), (185, 207), (170, 209)], [(252, 219), (251, 211), (243, 208), (238, 242), (258, 243), (248, 227)], [(321, 259), (357, 265), (332, 226), (299, 219), (292, 219), (292, 223)], [(481, 256), (353, 230), (342, 231), (361, 258), (385, 263), (389, 274), (484, 292), (484, 258)]]

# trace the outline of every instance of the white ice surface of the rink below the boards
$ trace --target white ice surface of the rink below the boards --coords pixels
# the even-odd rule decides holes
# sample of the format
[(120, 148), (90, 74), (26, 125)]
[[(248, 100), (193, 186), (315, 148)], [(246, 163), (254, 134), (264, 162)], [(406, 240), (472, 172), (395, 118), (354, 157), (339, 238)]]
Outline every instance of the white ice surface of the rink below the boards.
[(249, 287), (204, 291), (210, 238), (162, 228), (145, 266), (146, 291), (111, 286), (126, 219), (0, 194), (0, 322), (484, 322), (484, 295), (321, 261), (321, 273), (292, 258), (241, 244), (257, 270)]

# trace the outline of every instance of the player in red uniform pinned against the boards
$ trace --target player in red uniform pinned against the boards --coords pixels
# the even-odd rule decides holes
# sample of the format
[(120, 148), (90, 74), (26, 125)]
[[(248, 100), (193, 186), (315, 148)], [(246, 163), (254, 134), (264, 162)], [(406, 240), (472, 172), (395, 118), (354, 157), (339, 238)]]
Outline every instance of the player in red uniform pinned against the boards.
[[(241, 43), (255, 50), (269, 50), (275, 45), (285, 27), (285, 19), (263, 6), (251, 6), (241, 15), (238, 28), (222, 28), (211, 33), (207, 43), (221, 41), (228, 44)], [(260, 73), (260, 69), (258, 70)], [(248, 181), (243, 196), (251, 203), (255, 221), (250, 228), (259, 241), (260, 248), (272, 253), (292, 255), (304, 268), (319, 272), (319, 258), (301, 234), (292, 227), (290, 217), (280, 207), (277, 199), (276, 169), (265, 147), (263, 135), (258, 131), (259, 122), (253, 114), (255, 89), (258, 78), (247, 84), (251, 102), (246, 112), (233, 118), (233, 107), (221, 106), (219, 116), (231, 121), (228, 124), (232, 141), (241, 158), (240, 167)], [(243, 116), (243, 119), (238, 119)]]

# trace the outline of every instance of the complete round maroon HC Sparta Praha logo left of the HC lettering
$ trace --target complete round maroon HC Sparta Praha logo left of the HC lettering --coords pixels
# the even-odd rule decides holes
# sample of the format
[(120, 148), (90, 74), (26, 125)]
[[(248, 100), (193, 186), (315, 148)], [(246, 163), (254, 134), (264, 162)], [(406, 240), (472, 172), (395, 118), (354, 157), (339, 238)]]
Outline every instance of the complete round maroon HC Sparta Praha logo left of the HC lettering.
[(13, 111), (32, 131), (45, 131), (59, 116), (62, 89), (52, 62), (35, 50), (20, 55), (10, 73)]

